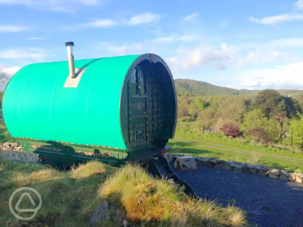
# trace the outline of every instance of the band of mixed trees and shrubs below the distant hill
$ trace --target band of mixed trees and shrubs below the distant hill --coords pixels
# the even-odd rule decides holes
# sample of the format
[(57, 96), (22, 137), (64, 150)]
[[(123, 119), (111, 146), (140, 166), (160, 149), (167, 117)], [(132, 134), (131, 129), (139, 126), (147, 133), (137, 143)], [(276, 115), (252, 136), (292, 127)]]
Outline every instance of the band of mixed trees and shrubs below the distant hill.
[(302, 145), (301, 96), (283, 96), (274, 89), (251, 96), (180, 96), (178, 118), (261, 143), (282, 143), (285, 133), (293, 133), (294, 142)]

